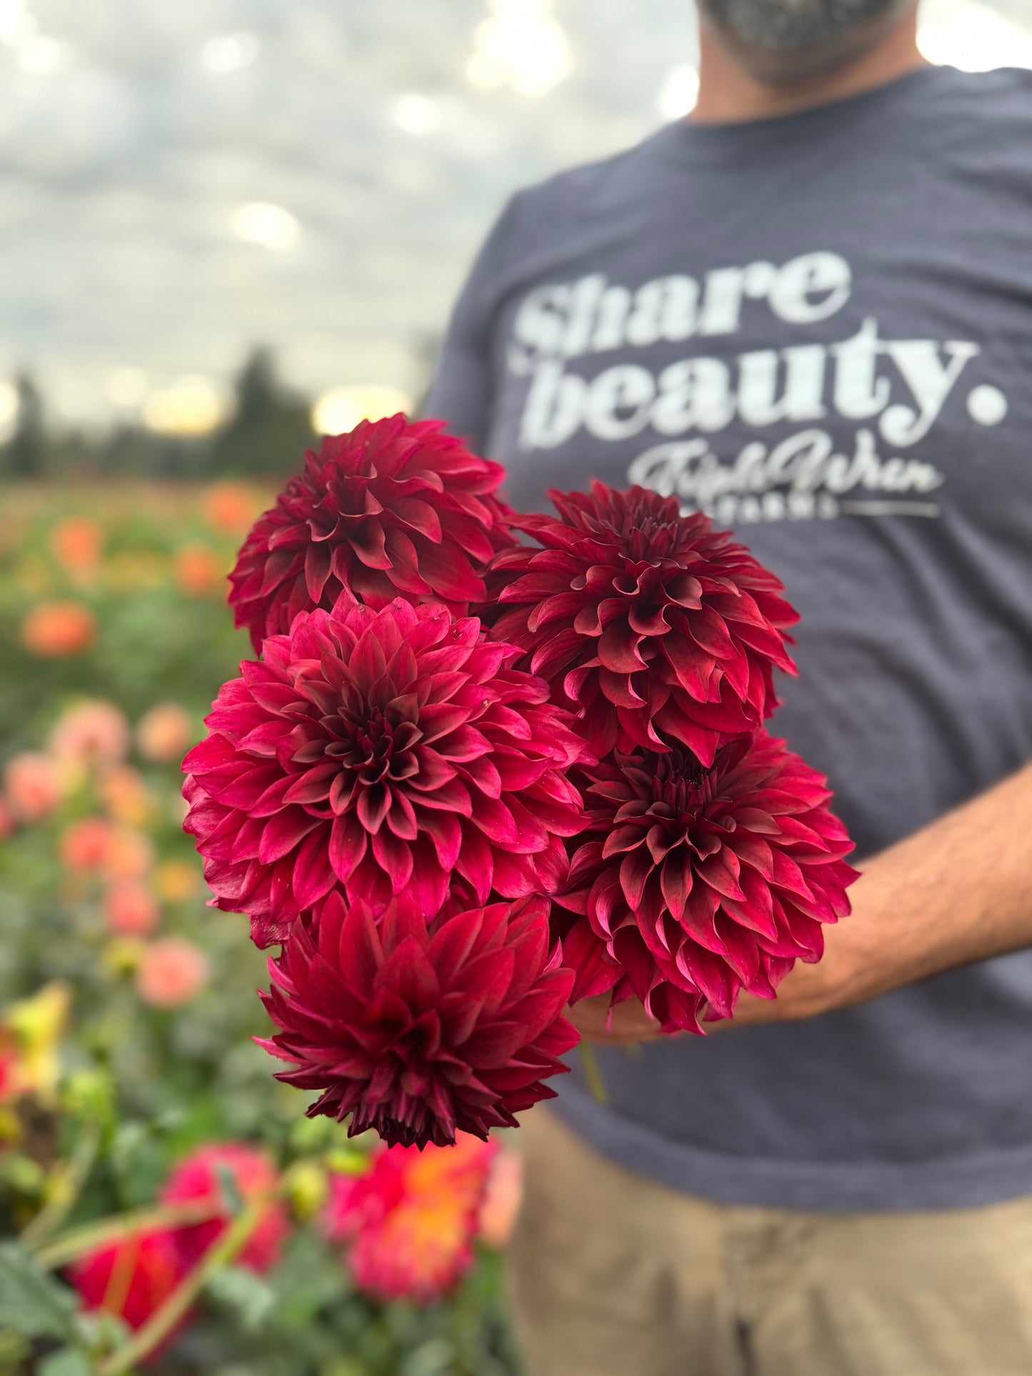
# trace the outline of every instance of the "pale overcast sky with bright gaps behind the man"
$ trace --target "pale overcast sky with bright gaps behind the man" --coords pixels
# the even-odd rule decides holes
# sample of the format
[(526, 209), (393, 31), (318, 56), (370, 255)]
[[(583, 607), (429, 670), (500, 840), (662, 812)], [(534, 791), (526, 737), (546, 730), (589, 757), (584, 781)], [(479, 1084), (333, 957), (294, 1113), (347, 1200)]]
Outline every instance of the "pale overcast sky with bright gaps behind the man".
[[(1028, 0), (927, 3), (1032, 65)], [(0, 385), (100, 418), (267, 343), (411, 391), (505, 195), (673, 117), (694, 50), (691, 0), (0, 0)]]

